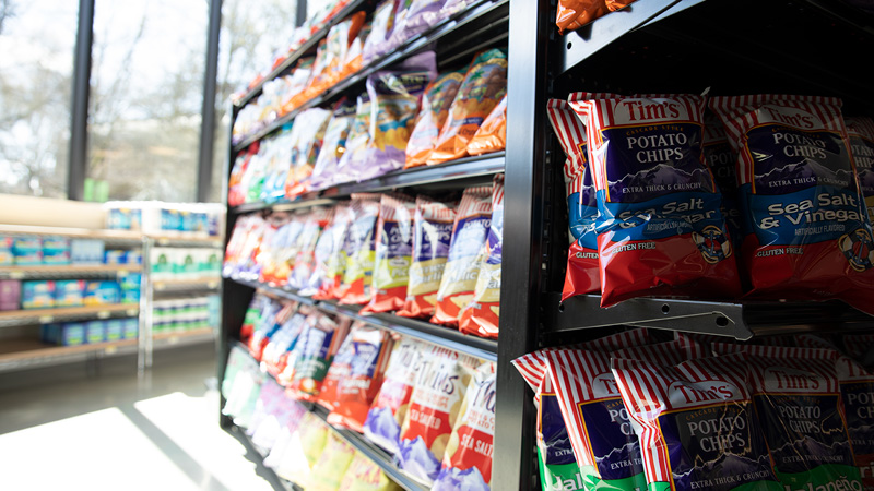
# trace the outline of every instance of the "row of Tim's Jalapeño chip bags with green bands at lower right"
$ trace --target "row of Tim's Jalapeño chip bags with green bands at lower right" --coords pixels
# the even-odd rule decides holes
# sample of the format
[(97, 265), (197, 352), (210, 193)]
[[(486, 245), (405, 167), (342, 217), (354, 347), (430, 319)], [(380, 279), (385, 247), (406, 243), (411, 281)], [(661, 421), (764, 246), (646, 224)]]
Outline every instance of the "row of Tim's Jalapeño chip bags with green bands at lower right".
[[(705, 346), (635, 333), (513, 361), (535, 391), (544, 488), (871, 488), (860, 393), (872, 380), (849, 354), (814, 336)], [(623, 335), (643, 344), (616, 349)], [(568, 440), (578, 467), (567, 467)]]

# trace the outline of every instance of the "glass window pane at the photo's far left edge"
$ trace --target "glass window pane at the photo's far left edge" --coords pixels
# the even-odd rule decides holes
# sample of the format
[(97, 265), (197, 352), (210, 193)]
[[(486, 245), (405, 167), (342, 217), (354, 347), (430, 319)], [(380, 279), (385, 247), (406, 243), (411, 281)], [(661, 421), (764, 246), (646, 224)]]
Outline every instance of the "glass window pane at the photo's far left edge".
[(0, 193), (67, 195), (78, 8), (0, 0)]

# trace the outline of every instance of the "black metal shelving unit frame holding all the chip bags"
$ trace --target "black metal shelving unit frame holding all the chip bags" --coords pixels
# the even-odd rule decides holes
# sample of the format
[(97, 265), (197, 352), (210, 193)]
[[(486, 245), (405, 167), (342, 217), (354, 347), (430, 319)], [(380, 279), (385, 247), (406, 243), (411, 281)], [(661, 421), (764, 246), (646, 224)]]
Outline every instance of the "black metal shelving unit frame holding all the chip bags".
[[(874, 330), (872, 318), (839, 302), (634, 299), (610, 309), (599, 296), (562, 303), (567, 256), (564, 154), (548, 129), (546, 99), (569, 92), (799, 93), (838, 96), (848, 115), (874, 115), (874, 98), (860, 55), (874, 48), (874, 22), (841, 2), (823, 0), (638, 0), (588, 26), (559, 35), (555, 0), (481, 1), (377, 60), (306, 107), (361, 86), (367, 74), (435, 47), (446, 68), (488, 43), (509, 49), (507, 148), (476, 159), (397, 171), (373, 181), (342, 184), (293, 203), (251, 203), (236, 217), (282, 207), (323, 204), (352, 192), (465, 185), (505, 173), (505, 240), (500, 340), (472, 340), (459, 333), (390, 314), (362, 315), (357, 308), (316, 302), (330, 312), (382, 328), (476, 352), (498, 363), (493, 468), (495, 490), (539, 489), (531, 393), (510, 360), (547, 346), (604, 334), (619, 325), (716, 334), (736, 339), (823, 330)], [(481, 38), (477, 38), (481, 36)], [(848, 47), (852, 47), (849, 49)], [(291, 62), (293, 62), (292, 60)], [(290, 62), (290, 63), (291, 63)], [(276, 72), (279, 73), (279, 72)], [(256, 94), (257, 95), (257, 94)], [(249, 97), (251, 99), (251, 97)], [(236, 110), (239, 107), (235, 108)], [(287, 116), (288, 121), (294, 113)], [(231, 146), (236, 152), (270, 134), (282, 121)], [(220, 378), (227, 346), (243, 322), (253, 288), (225, 279)], [(300, 300), (294, 291), (265, 288)], [(436, 330), (436, 331), (435, 331)], [(423, 337), (425, 336), (425, 337)], [(223, 421), (228, 424), (229, 421)], [(365, 442), (366, 443), (366, 442)], [(377, 459), (378, 460), (378, 459)], [(391, 471), (390, 463), (380, 465)], [(390, 474), (391, 475), (391, 474)]]

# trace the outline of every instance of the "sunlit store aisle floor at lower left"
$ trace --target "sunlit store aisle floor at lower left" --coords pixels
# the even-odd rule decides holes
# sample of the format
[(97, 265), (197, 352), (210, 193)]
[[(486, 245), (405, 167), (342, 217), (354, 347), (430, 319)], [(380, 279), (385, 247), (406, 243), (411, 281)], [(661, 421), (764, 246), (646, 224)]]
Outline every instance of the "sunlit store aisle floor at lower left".
[(218, 428), (213, 349), (0, 374), (0, 489), (272, 489)]

